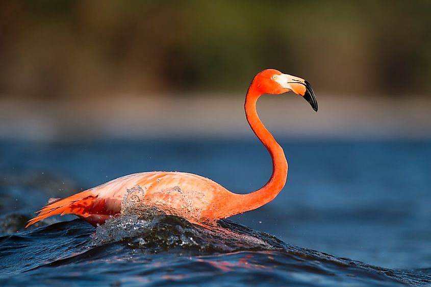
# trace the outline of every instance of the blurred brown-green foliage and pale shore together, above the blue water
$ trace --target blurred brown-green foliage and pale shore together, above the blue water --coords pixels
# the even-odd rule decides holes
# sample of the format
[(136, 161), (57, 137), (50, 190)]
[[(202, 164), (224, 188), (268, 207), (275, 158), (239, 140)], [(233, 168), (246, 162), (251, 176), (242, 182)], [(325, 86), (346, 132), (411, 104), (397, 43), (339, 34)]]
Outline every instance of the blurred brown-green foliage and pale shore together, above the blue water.
[(429, 137), (429, 11), (429, 1), (2, 1), (0, 136), (246, 134), (248, 84), (276, 68), (307, 79), (320, 110), (314, 122), (290, 94), (272, 99), (261, 113), (274, 109), (264, 117), (274, 131)]

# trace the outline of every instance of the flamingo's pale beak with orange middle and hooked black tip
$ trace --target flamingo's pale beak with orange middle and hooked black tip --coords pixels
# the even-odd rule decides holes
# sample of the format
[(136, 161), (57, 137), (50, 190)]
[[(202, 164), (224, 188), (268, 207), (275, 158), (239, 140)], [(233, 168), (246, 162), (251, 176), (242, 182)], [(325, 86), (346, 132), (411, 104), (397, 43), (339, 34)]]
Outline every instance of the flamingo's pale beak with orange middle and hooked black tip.
[(317, 106), (316, 96), (314, 95), (313, 88), (309, 82), (304, 79), (286, 74), (278, 76), (275, 81), (289, 91), (293, 91), (294, 93), (301, 95), (302, 98), (310, 103), (313, 110), (317, 112), (319, 107)]

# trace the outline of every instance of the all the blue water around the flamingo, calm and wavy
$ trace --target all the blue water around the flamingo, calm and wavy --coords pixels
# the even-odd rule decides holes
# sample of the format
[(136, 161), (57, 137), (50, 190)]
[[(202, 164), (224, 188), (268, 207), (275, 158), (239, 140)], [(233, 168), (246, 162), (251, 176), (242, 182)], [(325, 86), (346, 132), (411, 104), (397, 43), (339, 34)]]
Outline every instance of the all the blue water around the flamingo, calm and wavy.
[(431, 142), (281, 144), (282, 193), (216, 229), (131, 211), (24, 230), (47, 198), (125, 174), (191, 172), (247, 193), (271, 163), (254, 139), (0, 143), (0, 285), (431, 285)]

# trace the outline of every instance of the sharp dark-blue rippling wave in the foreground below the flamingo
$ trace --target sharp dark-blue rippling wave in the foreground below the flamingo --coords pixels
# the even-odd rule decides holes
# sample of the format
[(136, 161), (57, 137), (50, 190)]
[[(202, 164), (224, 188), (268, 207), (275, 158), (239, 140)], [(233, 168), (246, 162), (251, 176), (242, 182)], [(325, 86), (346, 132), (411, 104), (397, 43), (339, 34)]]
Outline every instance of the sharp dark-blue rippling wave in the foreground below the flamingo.
[[(0, 285), (59, 285), (66, 280), (77, 286), (431, 283), (428, 269), (374, 267), (291, 246), (230, 220), (194, 225), (137, 204), (140, 193), (134, 189), (121, 215), (95, 230), (78, 219), (0, 237)], [(14, 220), (22, 221), (9, 219)]]

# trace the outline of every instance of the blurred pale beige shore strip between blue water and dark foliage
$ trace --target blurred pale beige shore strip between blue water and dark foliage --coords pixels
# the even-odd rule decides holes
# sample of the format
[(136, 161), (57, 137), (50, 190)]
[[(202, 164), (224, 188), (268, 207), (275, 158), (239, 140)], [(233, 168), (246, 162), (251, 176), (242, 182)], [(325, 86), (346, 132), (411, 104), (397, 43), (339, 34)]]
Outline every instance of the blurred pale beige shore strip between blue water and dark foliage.
[[(253, 137), (238, 94), (121, 96), (97, 100), (0, 99), (0, 140)], [(429, 139), (431, 100), (319, 95), (319, 111), (293, 94), (267, 95), (258, 113), (276, 137)]]

